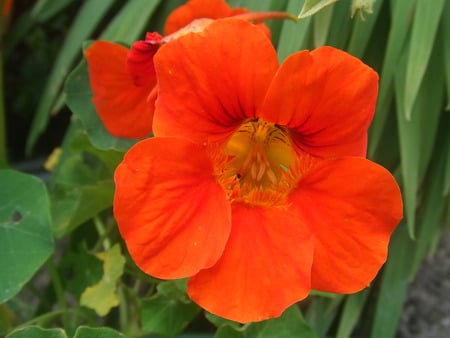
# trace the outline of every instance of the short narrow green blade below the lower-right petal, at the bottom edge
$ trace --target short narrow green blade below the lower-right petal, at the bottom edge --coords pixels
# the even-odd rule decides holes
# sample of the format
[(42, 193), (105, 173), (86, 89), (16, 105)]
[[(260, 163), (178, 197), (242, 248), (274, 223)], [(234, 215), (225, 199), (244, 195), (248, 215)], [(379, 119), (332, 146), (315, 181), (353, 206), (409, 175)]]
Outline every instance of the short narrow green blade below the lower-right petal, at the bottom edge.
[(353, 329), (358, 324), (361, 312), (367, 300), (369, 289), (349, 295), (345, 299), (344, 308), (339, 320), (336, 338), (350, 338)]

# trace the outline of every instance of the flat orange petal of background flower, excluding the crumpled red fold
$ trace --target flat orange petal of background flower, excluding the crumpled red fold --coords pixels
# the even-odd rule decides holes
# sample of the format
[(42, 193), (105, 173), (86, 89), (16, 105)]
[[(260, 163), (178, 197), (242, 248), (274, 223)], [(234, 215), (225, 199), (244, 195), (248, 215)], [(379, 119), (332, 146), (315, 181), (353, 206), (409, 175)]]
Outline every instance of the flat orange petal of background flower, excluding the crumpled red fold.
[(93, 103), (105, 128), (116, 137), (142, 138), (152, 131), (154, 104), (147, 97), (156, 79), (138, 86), (127, 71), (128, 49), (96, 41), (84, 52)]

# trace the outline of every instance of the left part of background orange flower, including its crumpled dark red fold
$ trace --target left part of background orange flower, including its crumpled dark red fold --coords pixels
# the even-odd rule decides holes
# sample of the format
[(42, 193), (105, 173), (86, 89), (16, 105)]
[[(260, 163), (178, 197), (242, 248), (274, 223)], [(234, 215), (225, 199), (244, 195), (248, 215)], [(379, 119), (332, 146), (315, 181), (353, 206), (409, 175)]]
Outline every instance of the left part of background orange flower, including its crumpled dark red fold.
[(156, 100), (153, 56), (162, 37), (147, 33), (145, 41), (132, 48), (95, 41), (84, 52), (92, 102), (100, 120), (111, 135), (143, 138), (152, 131)]

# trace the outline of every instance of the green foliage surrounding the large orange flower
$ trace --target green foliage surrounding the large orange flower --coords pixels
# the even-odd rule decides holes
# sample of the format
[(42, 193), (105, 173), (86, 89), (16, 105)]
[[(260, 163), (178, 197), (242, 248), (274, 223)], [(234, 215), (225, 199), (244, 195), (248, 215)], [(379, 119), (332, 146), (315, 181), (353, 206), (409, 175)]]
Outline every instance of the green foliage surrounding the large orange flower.
[[(53, 145), (59, 150), (46, 185), (0, 171), (0, 335), (394, 337), (407, 287), (450, 223), (450, 1), (229, 1), (300, 13), (297, 23), (268, 23), (280, 62), (298, 50), (331, 45), (378, 71), (368, 157), (396, 176), (405, 206), (388, 261), (370, 288), (350, 296), (314, 293), (301, 310), (293, 305), (279, 318), (247, 325), (202, 313), (187, 297), (185, 281), (144, 275), (126, 256), (112, 213), (114, 170), (136, 140), (113, 137), (98, 118), (82, 48), (94, 39), (130, 45), (147, 30), (161, 32), (166, 16), (183, 2), (39, 0), (11, 22), (5, 61), (24, 45), (36, 55), (22, 55), (18, 67), (32, 90), (20, 88), (5, 101), (6, 112), (35, 106), (22, 135), (27, 152), (55, 132), (49, 125), (64, 103), (73, 118), (62, 142)], [(50, 24), (67, 27), (62, 43), (47, 41)], [(35, 96), (37, 102), (30, 99)], [(42, 281), (36, 272), (54, 253), (54, 241), (57, 250)], [(105, 327), (87, 327), (98, 325)], [(48, 329), (57, 326), (63, 329)]]

